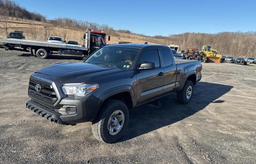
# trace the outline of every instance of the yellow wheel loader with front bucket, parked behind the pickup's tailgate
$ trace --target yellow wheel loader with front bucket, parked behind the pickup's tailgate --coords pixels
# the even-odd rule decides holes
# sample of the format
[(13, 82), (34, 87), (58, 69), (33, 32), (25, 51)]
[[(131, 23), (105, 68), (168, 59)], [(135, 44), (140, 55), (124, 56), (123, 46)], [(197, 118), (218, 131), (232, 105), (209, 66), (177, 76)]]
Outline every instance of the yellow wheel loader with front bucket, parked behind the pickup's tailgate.
[(210, 45), (203, 45), (202, 51), (200, 51), (201, 60), (206, 62), (220, 63), (222, 55), (218, 54), (216, 49), (212, 49)]

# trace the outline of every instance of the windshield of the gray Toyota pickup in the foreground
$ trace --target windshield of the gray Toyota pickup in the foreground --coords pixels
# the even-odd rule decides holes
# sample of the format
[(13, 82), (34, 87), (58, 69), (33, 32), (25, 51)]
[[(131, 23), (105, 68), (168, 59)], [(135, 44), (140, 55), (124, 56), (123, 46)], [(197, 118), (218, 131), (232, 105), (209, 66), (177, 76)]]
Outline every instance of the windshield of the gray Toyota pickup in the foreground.
[(102, 47), (84, 62), (130, 69), (139, 50), (125, 47)]

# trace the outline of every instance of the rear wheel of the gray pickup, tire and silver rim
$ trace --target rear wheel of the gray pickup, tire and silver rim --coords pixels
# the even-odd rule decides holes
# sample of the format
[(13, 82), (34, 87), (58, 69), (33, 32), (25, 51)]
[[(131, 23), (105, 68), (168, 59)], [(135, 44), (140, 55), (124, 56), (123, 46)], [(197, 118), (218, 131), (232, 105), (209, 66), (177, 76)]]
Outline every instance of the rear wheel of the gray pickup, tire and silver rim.
[[(187, 94), (187, 91), (191, 91), (190, 96), (189, 96), (189, 93)], [(177, 92), (178, 102), (181, 104), (189, 103), (193, 95), (193, 92), (194, 92), (194, 84), (192, 81), (187, 80), (182, 90)]]

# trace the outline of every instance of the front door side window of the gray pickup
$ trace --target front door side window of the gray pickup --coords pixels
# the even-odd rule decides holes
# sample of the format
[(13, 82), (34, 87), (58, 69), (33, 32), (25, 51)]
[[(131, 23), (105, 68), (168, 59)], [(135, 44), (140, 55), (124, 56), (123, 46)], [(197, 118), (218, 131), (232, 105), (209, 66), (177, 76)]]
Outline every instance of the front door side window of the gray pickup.
[(140, 58), (140, 63), (145, 63), (146, 61), (153, 62), (156, 64), (156, 67), (160, 67), (160, 59), (159, 59), (158, 50), (152, 49), (152, 50), (146, 51)]

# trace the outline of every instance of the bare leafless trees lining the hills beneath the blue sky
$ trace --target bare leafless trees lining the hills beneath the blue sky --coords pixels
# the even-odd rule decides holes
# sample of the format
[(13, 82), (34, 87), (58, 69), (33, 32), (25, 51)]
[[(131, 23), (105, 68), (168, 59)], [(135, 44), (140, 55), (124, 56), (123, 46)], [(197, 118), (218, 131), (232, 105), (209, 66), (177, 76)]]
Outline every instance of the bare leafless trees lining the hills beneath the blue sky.
[[(139, 38), (141, 40), (150, 41), (156, 44), (170, 45), (176, 44), (180, 46), (180, 51), (195, 47), (202, 49), (202, 45), (212, 45), (213, 49), (217, 49), (218, 53), (228, 56), (246, 56), (256, 57), (256, 32), (221, 32), (217, 34), (206, 33), (184, 33), (169, 36), (146, 36), (144, 34), (136, 34), (130, 30), (114, 30), (114, 28), (106, 24), (97, 24), (88, 21), (74, 20), (70, 18), (55, 18), (46, 20), (45, 16), (36, 12), (29, 12), (26, 8), (20, 7), (17, 2), (12, 0), (0, 0), (0, 24), (8, 34), (10, 27), (10, 18), (24, 18), (28, 20), (36, 20), (44, 22), (44, 28), (41, 31), (44, 36), (50, 36), (53, 27), (64, 28), (62, 36), (64, 40), (68, 35), (68, 29), (71, 29), (75, 36), (75, 30), (98, 30), (104, 31), (111, 36), (123, 38)], [(32, 38), (38, 36), (38, 29), (31, 25)]]

